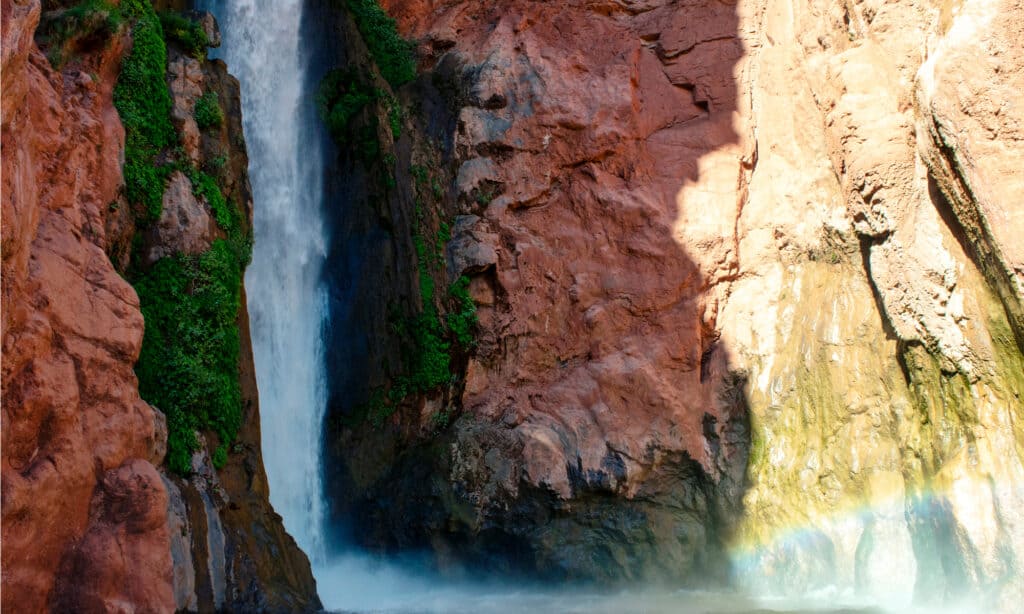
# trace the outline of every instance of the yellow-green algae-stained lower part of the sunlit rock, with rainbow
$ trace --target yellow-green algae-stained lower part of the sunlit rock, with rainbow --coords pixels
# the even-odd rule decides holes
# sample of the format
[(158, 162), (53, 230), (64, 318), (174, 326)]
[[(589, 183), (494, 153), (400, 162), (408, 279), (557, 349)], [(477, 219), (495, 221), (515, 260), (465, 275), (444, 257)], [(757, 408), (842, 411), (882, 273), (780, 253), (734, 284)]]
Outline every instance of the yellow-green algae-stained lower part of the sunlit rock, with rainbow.
[(785, 341), (749, 391), (750, 489), (731, 549), (741, 583), (856, 586), (894, 604), (915, 586), (926, 602), (929, 587), (936, 602), (1018, 589), (1024, 360), (998, 299), (952, 251), (982, 360), (974, 382), (894, 339), (859, 268), (788, 267)]

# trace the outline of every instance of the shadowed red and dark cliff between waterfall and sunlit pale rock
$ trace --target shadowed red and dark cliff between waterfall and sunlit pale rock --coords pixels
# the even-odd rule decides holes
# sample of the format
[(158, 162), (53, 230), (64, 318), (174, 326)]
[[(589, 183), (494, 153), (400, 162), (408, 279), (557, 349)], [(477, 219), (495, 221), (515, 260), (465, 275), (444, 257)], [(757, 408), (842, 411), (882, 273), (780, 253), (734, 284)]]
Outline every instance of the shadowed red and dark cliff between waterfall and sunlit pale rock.
[[(373, 177), (350, 154), (335, 176), (326, 466), (342, 539), (457, 574), (727, 582), (751, 435), (716, 319), (740, 205), (706, 186), (756, 164), (734, 128), (736, 5), (384, 5), (430, 72), (400, 92), (424, 112), (395, 146), (397, 215), (366, 207)], [(400, 360), (385, 313), (416, 296), (404, 186), (427, 141), (475, 347), (451, 390), (353, 424)]]

